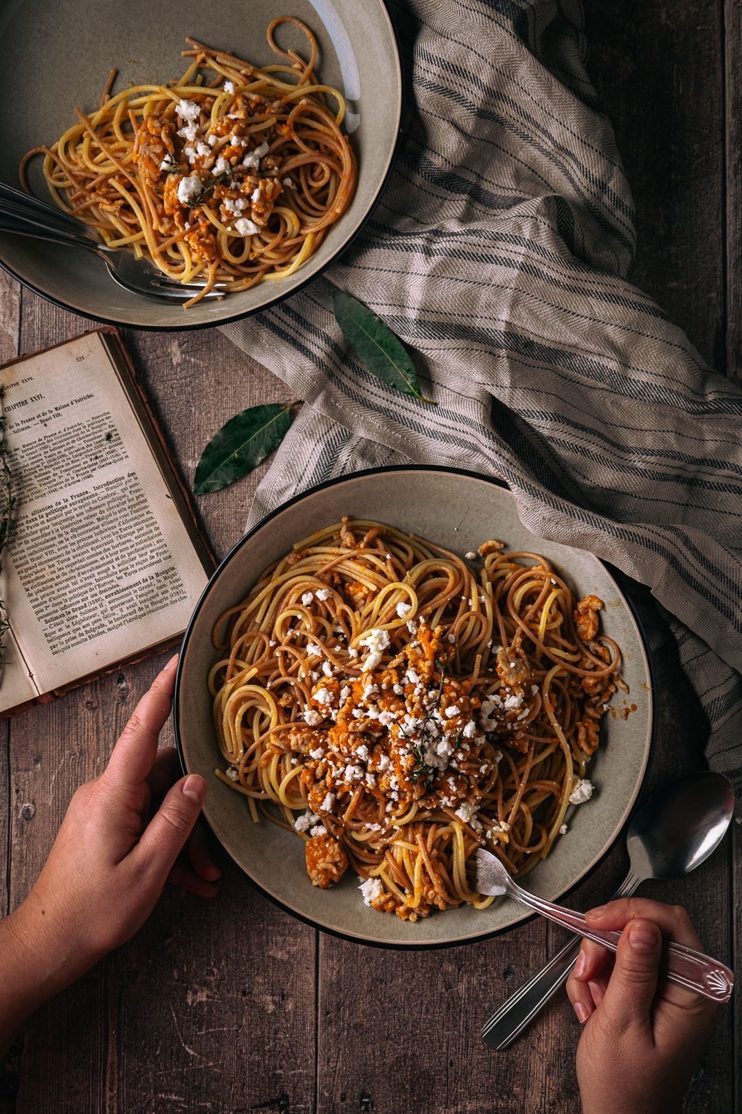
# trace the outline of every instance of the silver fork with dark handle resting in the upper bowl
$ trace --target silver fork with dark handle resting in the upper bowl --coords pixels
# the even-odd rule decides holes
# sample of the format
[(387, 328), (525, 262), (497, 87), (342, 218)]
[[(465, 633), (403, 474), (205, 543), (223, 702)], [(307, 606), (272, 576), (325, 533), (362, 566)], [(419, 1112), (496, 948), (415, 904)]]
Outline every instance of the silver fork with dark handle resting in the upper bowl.
[[(206, 285), (202, 281), (172, 282), (149, 260), (137, 260), (130, 251), (108, 247), (82, 221), (6, 183), (0, 183), (0, 232), (92, 252), (103, 261), (119, 286), (145, 297), (188, 301)], [(226, 290), (226, 283), (217, 283), (205, 299), (224, 297)]]

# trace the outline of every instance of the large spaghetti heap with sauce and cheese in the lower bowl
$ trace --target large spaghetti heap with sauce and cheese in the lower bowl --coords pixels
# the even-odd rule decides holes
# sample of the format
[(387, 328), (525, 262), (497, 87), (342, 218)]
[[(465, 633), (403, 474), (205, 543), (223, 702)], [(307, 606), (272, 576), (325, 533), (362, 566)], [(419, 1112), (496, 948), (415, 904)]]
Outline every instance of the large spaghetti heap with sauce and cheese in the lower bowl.
[(301, 836), (314, 885), (350, 864), (367, 903), (413, 921), (491, 903), (477, 847), (516, 876), (548, 853), (625, 688), (600, 599), (574, 606), (537, 554), (475, 556), (344, 518), (214, 632), (217, 776)]

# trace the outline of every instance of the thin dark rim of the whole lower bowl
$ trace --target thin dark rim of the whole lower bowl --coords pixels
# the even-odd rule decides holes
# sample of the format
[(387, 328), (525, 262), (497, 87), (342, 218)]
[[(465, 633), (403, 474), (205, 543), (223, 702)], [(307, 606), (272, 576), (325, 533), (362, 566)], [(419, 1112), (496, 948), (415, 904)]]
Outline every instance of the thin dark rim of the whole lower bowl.
[[(231, 547), (229, 553), (222, 558), (222, 560), (219, 561), (218, 566), (209, 577), (208, 584), (204, 588), (204, 592), (201, 593), (198, 602), (196, 603), (196, 606), (194, 607), (191, 617), (188, 622), (186, 631), (184, 632), (182, 641), (180, 643), (180, 648), (178, 651), (178, 667), (176, 670), (175, 692), (172, 696), (172, 725), (175, 731), (175, 742), (176, 742), (176, 750), (178, 753), (178, 761), (180, 763), (180, 768), (184, 774), (188, 774), (190, 772), (186, 765), (184, 755), (182, 736), (180, 732), (180, 714), (179, 714), (180, 712), (179, 697), (182, 683), (182, 663), (184, 663), (185, 652), (190, 635), (192, 633), (194, 626), (196, 624), (196, 619), (198, 618), (201, 607), (204, 606), (204, 604), (208, 598), (212, 585), (216, 584), (217, 579), (221, 576), (222, 571), (226, 570), (233, 557), (235, 557), (237, 553), (241, 549), (241, 547), (246, 545), (250, 540), (250, 538), (267, 522), (271, 521), (271, 519), (276, 518), (279, 514), (283, 514), (283, 511), (285, 511), (287, 508), (293, 507), (297, 502), (300, 502), (305, 498), (314, 495), (316, 491), (323, 491), (327, 488), (336, 487), (340, 483), (344, 483), (349, 479), (357, 479), (359, 477), (378, 476), (379, 473), (386, 473), (386, 472), (409, 472), (409, 471), (433, 472), (433, 473), (445, 472), (448, 475), (467, 477), (469, 479), (484, 480), (487, 483), (492, 483), (494, 487), (503, 488), (506, 491), (511, 490), (509, 486), (504, 480), (499, 480), (494, 476), (485, 476), (481, 472), (475, 472), (466, 468), (452, 468), (446, 465), (414, 465), (414, 463), (389, 465), (386, 467), (378, 467), (378, 468), (365, 468), (359, 471), (348, 472), (345, 476), (337, 476), (333, 479), (324, 480), (321, 483), (316, 483), (313, 487), (306, 488), (305, 490), (299, 491), (297, 495), (291, 496), (291, 498), (287, 499), (285, 502), (279, 504), (278, 507), (275, 507), (264, 518), (261, 518), (259, 522), (256, 522), (256, 525), (253, 526), (249, 530), (247, 530), (247, 532), (244, 534), (243, 537), (239, 538), (239, 540)], [(621, 593), (621, 596), (623, 597), (631, 613), (631, 616), (634, 619), (634, 623), (636, 624), (636, 631), (639, 633), (640, 644), (644, 653), (644, 661), (646, 663), (646, 670), (649, 675), (647, 677), (649, 678), (647, 695), (650, 702), (649, 743), (644, 751), (644, 762), (641, 771), (641, 776), (639, 779), (637, 786), (634, 793), (634, 798), (629, 807), (623, 823), (616, 830), (614, 837), (610, 840), (610, 842), (607, 843), (603, 852), (597, 857), (597, 859), (595, 859), (595, 861), (590, 867), (587, 867), (587, 869), (582, 874), (580, 874), (580, 877), (575, 879), (574, 882), (572, 882), (565, 890), (562, 890), (556, 896), (554, 900), (557, 902), (562, 902), (564, 898), (567, 898), (571, 893), (573, 893), (578, 886), (582, 886), (583, 882), (586, 882), (587, 879), (592, 877), (592, 874), (605, 861), (609, 854), (613, 851), (613, 849), (619, 844), (619, 842), (624, 838), (625, 833), (627, 832), (629, 827), (633, 820), (634, 813), (636, 812), (644, 797), (644, 791), (646, 788), (646, 779), (652, 765), (652, 759), (654, 756), (654, 746), (656, 742), (656, 732), (657, 732), (657, 716), (656, 716), (656, 709), (654, 701), (656, 674), (654, 670), (654, 662), (652, 658), (650, 642), (646, 634), (646, 629), (644, 627), (644, 623), (642, 620), (641, 615), (639, 614), (636, 604), (631, 598), (630, 592), (624, 590), (624, 587), (622, 587), (616, 580), (615, 574), (619, 573), (620, 570), (614, 569), (612, 565), (610, 565), (607, 561), (602, 560), (600, 557), (595, 557), (594, 554), (592, 556), (594, 557), (595, 560), (600, 561), (600, 564), (606, 569), (609, 576), (613, 580), (615, 580), (616, 587), (619, 588), (619, 592)], [(479, 932), (475, 936), (467, 936), (463, 939), (425, 941), (425, 942), (410, 941), (409, 944), (406, 944), (404, 941), (390, 944), (385, 940), (373, 940), (367, 937), (356, 936), (353, 932), (344, 932), (337, 928), (328, 928), (325, 925), (319, 925), (316, 920), (313, 920), (311, 917), (307, 917), (304, 913), (299, 912), (298, 910), (290, 908), (290, 906), (285, 905), (285, 902), (281, 901), (280, 898), (277, 898), (274, 893), (270, 893), (267, 889), (265, 889), (258, 881), (255, 880), (255, 878), (253, 878), (250, 873), (248, 873), (247, 869), (240, 862), (237, 861), (231, 851), (229, 851), (229, 849), (224, 846), (224, 843), (219, 840), (219, 838), (217, 837), (216, 832), (211, 828), (211, 824), (209, 823), (204, 813), (201, 813), (201, 819), (206, 824), (206, 827), (208, 828), (209, 832), (214, 836), (214, 839), (219, 844), (221, 851), (227, 856), (229, 856), (229, 858), (235, 863), (239, 872), (244, 874), (244, 877), (248, 880), (248, 882), (254, 889), (256, 889), (259, 893), (261, 893), (265, 898), (271, 901), (279, 909), (283, 909), (284, 912), (287, 912), (289, 916), (295, 917), (297, 920), (300, 920), (303, 924), (308, 925), (310, 928), (314, 928), (320, 932), (327, 932), (329, 936), (337, 937), (337, 939), (339, 940), (349, 940), (350, 942), (356, 945), (362, 945), (370, 948), (383, 948), (385, 950), (392, 950), (392, 951), (395, 950), (431, 951), (441, 948), (465, 947), (466, 945), (481, 944), (484, 940), (492, 940), (497, 936), (503, 936), (506, 932), (514, 931), (522, 925), (527, 925), (530, 921), (535, 920), (536, 917), (538, 916), (537, 912), (528, 913), (520, 918), (517, 921), (515, 921), (515, 924), (504, 925), (501, 928), (489, 929), (487, 931)]]

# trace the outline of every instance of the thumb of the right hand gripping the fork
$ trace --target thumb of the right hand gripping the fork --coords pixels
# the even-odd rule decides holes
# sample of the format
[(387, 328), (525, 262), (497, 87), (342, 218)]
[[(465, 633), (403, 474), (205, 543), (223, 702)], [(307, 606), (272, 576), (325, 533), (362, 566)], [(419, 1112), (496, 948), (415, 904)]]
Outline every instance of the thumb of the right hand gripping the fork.
[(601, 1003), (617, 1026), (646, 1024), (657, 987), (662, 934), (653, 920), (631, 920), (619, 940), (615, 966)]

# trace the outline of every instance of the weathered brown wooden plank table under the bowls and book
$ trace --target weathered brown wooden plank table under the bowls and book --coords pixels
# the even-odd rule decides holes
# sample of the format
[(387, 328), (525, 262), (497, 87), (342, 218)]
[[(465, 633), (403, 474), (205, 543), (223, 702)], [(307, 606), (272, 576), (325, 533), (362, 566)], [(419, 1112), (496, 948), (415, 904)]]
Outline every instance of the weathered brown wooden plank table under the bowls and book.
[[(636, 197), (635, 281), (706, 360), (740, 374), (742, 6), (588, 0), (586, 8), (591, 70)], [(0, 359), (88, 328), (2, 274), (0, 292)], [(227, 418), (286, 398), (217, 332), (128, 331), (126, 342), (186, 478)], [(239, 538), (258, 479), (200, 500), (218, 555)], [(0, 726), (0, 913), (28, 892), (72, 792), (100, 772), (161, 664), (113, 674)], [(657, 666), (653, 783), (701, 766), (704, 737), (670, 646)], [(691, 878), (644, 890), (685, 905), (709, 950), (730, 962), (742, 930), (732, 827)], [(225, 868), (216, 901), (168, 890), (129, 945), (30, 1019), (0, 1075), (0, 1112), (578, 1112), (578, 1025), (564, 996), (505, 1054), (478, 1037), (488, 1007), (562, 942), (560, 930), (540, 920), (483, 945), (378, 951), (299, 924)], [(615, 848), (575, 906), (604, 899), (624, 868)], [(723, 1010), (694, 1077), (693, 1114), (740, 1108), (739, 1000), (736, 1029), (733, 1010)]]

